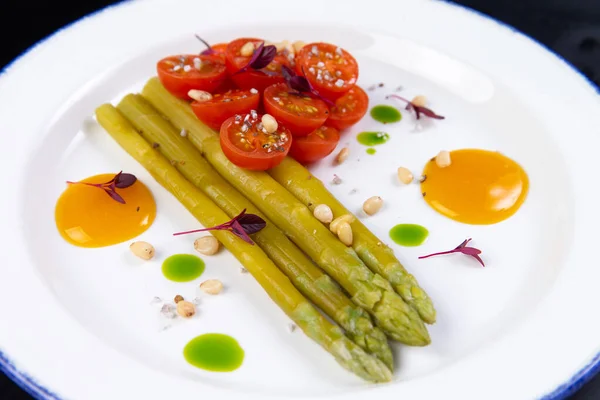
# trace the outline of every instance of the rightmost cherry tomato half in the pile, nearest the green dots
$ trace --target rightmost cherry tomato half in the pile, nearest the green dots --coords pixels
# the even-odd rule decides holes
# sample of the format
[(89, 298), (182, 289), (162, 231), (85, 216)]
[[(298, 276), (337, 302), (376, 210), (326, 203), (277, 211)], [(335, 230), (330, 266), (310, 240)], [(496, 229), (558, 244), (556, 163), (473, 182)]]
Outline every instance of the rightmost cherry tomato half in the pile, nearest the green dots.
[(359, 86), (354, 86), (335, 101), (325, 125), (341, 131), (350, 128), (362, 119), (369, 109), (369, 96)]

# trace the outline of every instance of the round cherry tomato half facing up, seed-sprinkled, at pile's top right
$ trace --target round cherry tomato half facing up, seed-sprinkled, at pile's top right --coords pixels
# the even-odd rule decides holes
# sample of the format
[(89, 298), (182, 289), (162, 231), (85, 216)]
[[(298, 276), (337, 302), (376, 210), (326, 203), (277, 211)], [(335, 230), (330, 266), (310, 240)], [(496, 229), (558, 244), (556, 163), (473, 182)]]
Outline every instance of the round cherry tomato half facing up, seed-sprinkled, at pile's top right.
[(354, 57), (329, 43), (310, 43), (296, 56), (296, 71), (305, 75), (323, 97), (335, 100), (352, 89), (358, 79)]

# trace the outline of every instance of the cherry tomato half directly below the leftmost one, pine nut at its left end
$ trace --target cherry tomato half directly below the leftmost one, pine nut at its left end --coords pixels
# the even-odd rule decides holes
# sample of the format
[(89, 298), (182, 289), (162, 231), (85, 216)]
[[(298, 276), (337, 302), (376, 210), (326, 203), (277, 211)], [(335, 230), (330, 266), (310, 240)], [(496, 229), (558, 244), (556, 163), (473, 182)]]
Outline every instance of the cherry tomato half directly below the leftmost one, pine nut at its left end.
[(191, 106), (200, 121), (218, 131), (227, 118), (256, 110), (259, 101), (260, 94), (258, 92), (234, 89), (216, 93), (208, 101), (194, 101)]

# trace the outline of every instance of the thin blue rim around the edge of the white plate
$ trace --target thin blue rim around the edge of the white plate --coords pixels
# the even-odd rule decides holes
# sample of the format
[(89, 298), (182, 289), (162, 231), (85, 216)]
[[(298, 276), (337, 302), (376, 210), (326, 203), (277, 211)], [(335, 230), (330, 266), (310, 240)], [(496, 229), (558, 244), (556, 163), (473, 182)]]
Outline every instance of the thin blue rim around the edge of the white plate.
[[(83, 21), (85, 19), (91, 18), (91, 17), (96, 16), (96, 15), (98, 15), (100, 13), (103, 13), (104, 11), (106, 11), (108, 9), (121, 6), (124, 3), (128, 3), (128, 2), (131, 2), (131, 1), (132, 0), (120, 0), (117, 3), (115, 3), (115, 4), (111, 4), (109, 6), (101, 8), (101, 9), (99, 9), (97, 11), (94, 11), (93, 13), (90, 13), (90, 14), (82, 17), (82, 18), (79, 18), (79, 19), (77, 19), (77, 20), (75, 20), (75, 21), (73, 21), (73, 22), (71, 22), (71, 23), (63, 26), (62, 28), (56, 30), (51, 35), (45, 37), (44, 39), (42, 39), (39, 42), (35, 43), (30, 48), (26, 49), (23, 53), (21, 53), (20, 55), (18, 55), (13, 61), (11, 61), (7, 65), (5, 65), (2, 69), (0, 69), (0, 77), (6, 71), (8, 71), (10, 69), (10, 67), (15, 62), (17, 62), (19, 59), (21, 59), (24, 56), (26, 56), (27, 54), (29, 54), (36, 47), (39, 47), (43, 43), (45, 43), (48, 40), (52, 39), (58, 33), (66, 30), (66, 29), (69, 29), (70, 27), (78, 24), (79, 22), (81, 22), (81, 21)], [(529, 35), (526, 35), (525, 33), (521, 32), (520, 30), (518, 30), (517, 28), (515, 28), (514, 26), (509, 25), (509, 24), (507, 24), (505, 22), (502, 22), (500, 20), (497, 20), (497, 19), (495, 19), (493, 17), (490, 17), (489, 15), (484, 14), (481, 11), (477, 11), (477, 10), (475, 10), (473, 8), (464, 6), (462, 4), (454, 3), (452, 0), (435, 0), (435, 1), (438, 1), (440, 3), (445, 3), (445, 4), (447, 4), (449, 6), (452, 6), (452, 7), (461, 8), (462, 10), (464, 10), (466, 12), (475, 14), (475, 15), (477, 15), (477, 16), (479, 16), (481, 18), (484, 18), (484, 19), (486, 19), (488, 21), (495, 22), (496, 24), (500, 25), (502, 28), (509, 29), (510, 31), (512, 31), (514, 33), (517, 33), (517, 34), (523, 36), (524, 38), (526, 38), (526, 39), (534, 42), (538, 46), (540, 46), (543, 49), (545, 49), (546, 51), (548, 51), (550, 54), (554, 55), (560, 61), (562, 61), (563, 63), (565, 63), (571, 70), (573, 70), (573, 72), (575, 72), (579, 76), (581, 76), (598, 94), (600, 94), (600, 86), (596, 85), (591, 79), (589, 79), (587, 76), (585, 76), (572, 63), (570, 63), (569, 61), (567, 61), (560, 54), (556, 53), (553, 49), (551, 49), (550, 47), (546, 46), (544, 43), (541, 43), (538, 40), (534, 39), (533, 37), (531, 37)], [(17, 386), (19, 386), (25, 392), (29, 393), (35, 399), (39, 399), (39, 400), (60, 400), (61, 399), (56, 393), (52, 392), (51, 390), (49, 390), (45, 386), (43, 386), (40, 383), (38, 383), (34, 378), (32, 378), (31, 376), (29, 376), (25, 372), (18, 370), (15, 367), (14, 363), (8, 358), (8, 355), (6, 353), (3, 353), (2, 351), (0, 351), (0, 372), (3, 372)], [(583, 385), (585, 385), (590, 379), (592, 379), (599, 372), (600, 372), (600, 353), (596, 354), (589, 361), (589, 363), (586, 366), (584, 366), (582, 369), (580, 369), (575, 375), (573, 375), (571, 377), (571, 379), (569, 379), (567, 382), (563, 383), (562, 385), (559, 385), (552, 392), (543, 395), (540, 398), (540, 400), (563, 400), (563, 399), (567, 398), (568, 396), (574, 394), (577, 390), (579, 390)]]

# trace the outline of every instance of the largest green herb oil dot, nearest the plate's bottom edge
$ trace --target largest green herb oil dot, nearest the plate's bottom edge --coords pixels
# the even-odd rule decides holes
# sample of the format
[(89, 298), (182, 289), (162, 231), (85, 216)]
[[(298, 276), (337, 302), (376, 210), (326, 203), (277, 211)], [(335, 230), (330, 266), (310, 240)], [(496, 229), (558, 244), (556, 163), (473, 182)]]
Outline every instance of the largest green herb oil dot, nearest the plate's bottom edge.
[(183, 349), (186, 361), (194, 367), (213, 372), (230, 372), (244, 362), (244, 349), (234, 338), (207, 333), (190, 340)]

